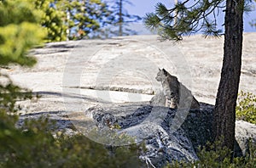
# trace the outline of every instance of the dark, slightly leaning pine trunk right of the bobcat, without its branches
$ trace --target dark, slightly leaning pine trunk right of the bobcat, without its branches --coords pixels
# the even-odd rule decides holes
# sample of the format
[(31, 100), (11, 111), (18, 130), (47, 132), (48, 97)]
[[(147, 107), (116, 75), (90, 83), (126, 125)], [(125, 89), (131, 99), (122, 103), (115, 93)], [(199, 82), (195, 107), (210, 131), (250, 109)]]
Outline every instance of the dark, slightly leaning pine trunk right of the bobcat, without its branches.
[(244, 0), (226, 0), (224, 60), (215, 104), (215, 140), (234, 150), (236, 98), (241, 74), (241, 48)]

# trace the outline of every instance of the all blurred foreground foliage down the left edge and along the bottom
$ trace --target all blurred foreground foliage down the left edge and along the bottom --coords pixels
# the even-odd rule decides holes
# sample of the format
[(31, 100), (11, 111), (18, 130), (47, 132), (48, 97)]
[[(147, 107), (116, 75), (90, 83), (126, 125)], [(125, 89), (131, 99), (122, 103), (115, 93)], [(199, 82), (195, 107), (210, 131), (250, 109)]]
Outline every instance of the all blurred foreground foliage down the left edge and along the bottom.
[[(43, 2), (43, 1), (42, 1)], [(32, 66), (30, 48), (43, 40), (44, 32), (30, 0), (0, 1), (0, 167), (134, 167), (139, 165), (137, 146), (113, 148), (82, 135), (57, 132), (48, 119), (26, 120), (16, 127), (16, 101), (32, 98), (15, 86), (3, 69), (9, 64)], [(48, 6), (48, 3), (45, 3)], [(42, 7), (43, 8), (43, 7)], [(3, 17), (2, 17), (3, 16)], [(39, 17), (40, 18), (40, 17)], [(48, 34), (49, 35), (49, 34)]]

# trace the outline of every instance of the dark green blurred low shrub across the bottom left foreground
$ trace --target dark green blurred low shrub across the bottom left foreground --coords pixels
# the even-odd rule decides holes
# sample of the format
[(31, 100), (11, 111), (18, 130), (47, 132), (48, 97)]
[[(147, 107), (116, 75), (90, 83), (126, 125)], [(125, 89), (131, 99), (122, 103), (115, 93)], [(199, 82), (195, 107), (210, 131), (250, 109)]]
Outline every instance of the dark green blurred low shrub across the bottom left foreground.
[(16, 128), (16, 115), (0, 113), (0, 167), (137, 167), (137, 145), (112, 148), (76, 135), (52, 135), (48, 119), (27, 120)]

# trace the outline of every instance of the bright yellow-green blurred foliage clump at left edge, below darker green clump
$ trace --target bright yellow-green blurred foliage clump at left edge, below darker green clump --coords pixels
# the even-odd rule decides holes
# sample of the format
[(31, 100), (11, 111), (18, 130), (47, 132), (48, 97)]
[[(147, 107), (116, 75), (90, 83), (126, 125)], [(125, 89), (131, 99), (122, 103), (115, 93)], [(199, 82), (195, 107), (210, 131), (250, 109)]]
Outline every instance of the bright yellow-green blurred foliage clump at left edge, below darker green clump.
[(27, 56), (28, 49), (41, 42), (44, 33), (38, 25), (23, 22), (0, 27), (1, 65), (16, 63), (32, 66), (36, 59)]

